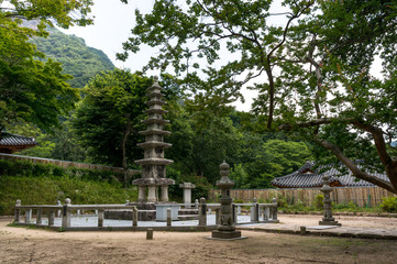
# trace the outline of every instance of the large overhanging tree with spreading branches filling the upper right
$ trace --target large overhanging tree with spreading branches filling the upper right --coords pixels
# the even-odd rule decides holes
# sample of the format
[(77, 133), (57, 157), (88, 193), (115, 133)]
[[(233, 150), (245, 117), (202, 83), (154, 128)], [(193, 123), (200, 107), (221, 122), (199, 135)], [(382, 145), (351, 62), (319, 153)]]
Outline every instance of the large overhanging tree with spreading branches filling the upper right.
[[(254, 110), (268, 130), (302, 132), (357, 178), (397, 193), (389, 147), (397, 133), (397, 3), (285, 0), (282, 12), (272, 4), (156, 0), (151, 13), (136, 10), (119, 58), (141, 45), (158, 47), (146, 68), (175, 72), (202, 105), (229, 103), (249, 82), (260, 91)], [(377, 56), (383, 77), (370, 73)], [(329, 161), (324, 152), (318, 157)], [(389, 182), (371, 175), (375, 169)]]

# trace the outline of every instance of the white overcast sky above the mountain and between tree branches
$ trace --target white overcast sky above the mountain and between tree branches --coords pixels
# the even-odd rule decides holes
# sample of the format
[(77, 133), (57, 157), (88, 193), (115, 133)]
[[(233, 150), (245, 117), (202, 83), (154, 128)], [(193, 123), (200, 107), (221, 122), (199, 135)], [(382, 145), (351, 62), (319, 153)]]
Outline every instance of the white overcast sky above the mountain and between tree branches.
[[(151, 56), (155, 56), (157, 51), (151, 47), (142, 47), (137, 54), (131, 54), (126, 62), (115, 59), (115, 54), (123, 52), (122, 43), (130, 36), (131, 29), (135, 23), (135, 9), (140, 9), (142, 13), (148, 13), (155, 0), (130, 0), (129, 4), (122, 3), (120, 0), (93, 0), (91, 14), (95, 16), (95, 24), (89, 26), (73, 26), (65, 31), (67, 34), (75, 34), (82, 37), (88, 46), (103, 51), (118, 68), (129, 68), (132, 73), (141, 70), (148, 62)], [(278, 3), (277, 1), (275, 1)], [(283, 12), (280, 4), (272, 8), (272, 12)], [(283, 19), (277, 16), (273, 24), (283, 24)], [(379, 76), (382, 69), (381, 61), (375, 62), (372, 74)], [(146, 75), (159, 75), (159, 72), (150, 70)], [(261, 77), (262, 78), (262, 77)], [(264, 77), (266, 78), (266, 77)], [(257, 96), (257, 91), (243, 89), (242, 94), (245, 103), (236, 101), (232, 103), (240, 111), (250, 111), (253, 98)]]

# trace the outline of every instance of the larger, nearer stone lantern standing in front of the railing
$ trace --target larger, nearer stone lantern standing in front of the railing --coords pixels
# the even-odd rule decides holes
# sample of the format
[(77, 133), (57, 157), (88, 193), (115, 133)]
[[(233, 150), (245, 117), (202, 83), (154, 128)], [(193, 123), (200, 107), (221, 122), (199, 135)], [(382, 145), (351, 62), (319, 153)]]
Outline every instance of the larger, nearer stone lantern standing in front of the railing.
[(220, 166), (221, 179), (217, 186), (221, 189), (221, 219), (218, 230), (212, 231), (212, 239), (243, 239), (241, 231), (236, 231), (233, 223), (232, 198), (230, 198), (230, 188), (234, 182), (229, 178), (229, 164), (223, 162)]

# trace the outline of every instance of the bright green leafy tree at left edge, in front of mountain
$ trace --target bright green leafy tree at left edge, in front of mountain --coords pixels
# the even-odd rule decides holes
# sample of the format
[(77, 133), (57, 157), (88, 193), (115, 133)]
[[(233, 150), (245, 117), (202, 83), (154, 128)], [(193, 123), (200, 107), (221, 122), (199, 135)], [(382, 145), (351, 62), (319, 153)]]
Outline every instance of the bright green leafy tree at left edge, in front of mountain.
[(52, 59), (40, 62), (43, 54), (27, 41), (45, 36), (47, 25), (91, 23), (87, 16), (91, 4), (90, 0), (0, 0), (0, 131), (19, 121), (49, 129), (74, 107), (79, 95), (66, 82), (71, 76), (63, 75), (60, 64)]

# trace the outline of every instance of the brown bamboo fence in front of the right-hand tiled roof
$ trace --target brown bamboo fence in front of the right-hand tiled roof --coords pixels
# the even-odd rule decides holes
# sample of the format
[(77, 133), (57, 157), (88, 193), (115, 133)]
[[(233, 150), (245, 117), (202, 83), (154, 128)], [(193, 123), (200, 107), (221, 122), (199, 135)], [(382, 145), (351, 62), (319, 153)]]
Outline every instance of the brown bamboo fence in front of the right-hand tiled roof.
[[(262, 202), (271, 202), (273, 198), (283, 198), (288, 205), (301, 202), (305, 206), (311, 206), (319, 194), (321, 194), (320, 188), (230, 190), (231, 198), (243, 200), (243, 202), (250, 202), (254, 198)], [(217, 201), (219, 196), (219, 189), (211, 189), (208, 198)], [(381, 187), (334, 187), (331, 193), (331, 199), (335, 205), (354, 202), (359, 207), (375, 207), (382, 202), (383, 197), (393, 196), (396, 197), (395, 194)]]

